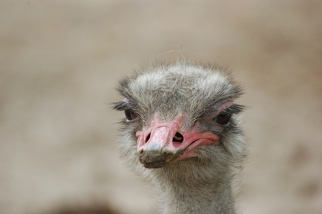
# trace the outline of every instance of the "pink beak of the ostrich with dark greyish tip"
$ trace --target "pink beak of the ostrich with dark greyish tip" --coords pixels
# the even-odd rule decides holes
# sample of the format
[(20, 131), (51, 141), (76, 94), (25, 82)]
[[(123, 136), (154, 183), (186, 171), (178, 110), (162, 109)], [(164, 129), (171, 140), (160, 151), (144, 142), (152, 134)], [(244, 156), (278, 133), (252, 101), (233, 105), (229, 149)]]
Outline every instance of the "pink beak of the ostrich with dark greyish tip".
[(218, 144), (219, 137), (212, 132), (198, 132), (199, 123), (193, 129), (183, 131), (182, 116), (171, 122), (160, 122), (155, 114), (152, 127), (137, 131), (139, 161), (148, 169), (157, 169), (174, 160), (197, 157), (195, 150), (202, 145)]

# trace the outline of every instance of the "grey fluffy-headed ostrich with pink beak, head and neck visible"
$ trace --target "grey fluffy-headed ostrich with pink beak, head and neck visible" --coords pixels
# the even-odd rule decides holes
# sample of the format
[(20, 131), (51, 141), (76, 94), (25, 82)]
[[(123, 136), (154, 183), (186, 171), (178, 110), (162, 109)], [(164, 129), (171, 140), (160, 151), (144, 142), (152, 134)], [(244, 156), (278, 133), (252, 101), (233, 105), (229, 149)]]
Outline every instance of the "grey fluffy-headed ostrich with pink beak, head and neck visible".
[(150, 183), (161, 213), (235, 213), (235, 177), (247, 155), (227, 69), (160, 62), (120, 80), (121, 156)]

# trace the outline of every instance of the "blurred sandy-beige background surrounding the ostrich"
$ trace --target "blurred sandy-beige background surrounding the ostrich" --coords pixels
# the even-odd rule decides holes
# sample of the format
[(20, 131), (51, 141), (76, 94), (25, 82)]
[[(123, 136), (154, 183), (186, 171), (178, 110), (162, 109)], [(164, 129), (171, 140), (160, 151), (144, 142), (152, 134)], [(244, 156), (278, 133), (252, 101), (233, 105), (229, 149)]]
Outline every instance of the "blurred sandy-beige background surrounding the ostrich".
[(0, 1), (0, 213), (153, 213), (118, 157), (118, 80), (230, 66), (250, 155), (239, 213), (322, 212), (322, 1)]

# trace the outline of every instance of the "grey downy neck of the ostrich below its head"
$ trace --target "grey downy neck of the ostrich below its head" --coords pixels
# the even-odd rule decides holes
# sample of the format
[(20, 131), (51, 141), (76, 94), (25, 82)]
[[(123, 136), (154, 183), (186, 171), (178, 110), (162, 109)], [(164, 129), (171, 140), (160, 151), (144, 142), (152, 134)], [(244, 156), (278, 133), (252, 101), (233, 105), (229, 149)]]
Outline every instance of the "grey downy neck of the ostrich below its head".
[(235, 213), (230, 176), (222, 176), (221, 181), (216, 178), (196, 181), (189, 176), (166, 177), (165, 174), (157, 179), (162, 213)]

